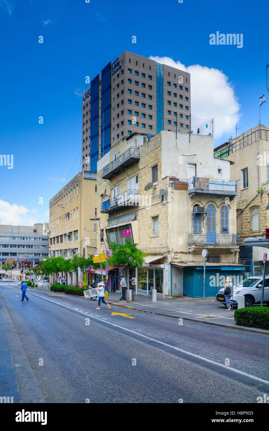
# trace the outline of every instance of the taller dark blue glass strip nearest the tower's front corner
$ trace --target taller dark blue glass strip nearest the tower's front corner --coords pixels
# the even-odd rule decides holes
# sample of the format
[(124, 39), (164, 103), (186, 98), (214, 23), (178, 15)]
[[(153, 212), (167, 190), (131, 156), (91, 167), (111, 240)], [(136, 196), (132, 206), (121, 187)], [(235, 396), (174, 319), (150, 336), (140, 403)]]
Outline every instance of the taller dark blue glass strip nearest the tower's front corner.
[(101, 88), (101, 157), (111, 147), (111, 62), (102, 70)]

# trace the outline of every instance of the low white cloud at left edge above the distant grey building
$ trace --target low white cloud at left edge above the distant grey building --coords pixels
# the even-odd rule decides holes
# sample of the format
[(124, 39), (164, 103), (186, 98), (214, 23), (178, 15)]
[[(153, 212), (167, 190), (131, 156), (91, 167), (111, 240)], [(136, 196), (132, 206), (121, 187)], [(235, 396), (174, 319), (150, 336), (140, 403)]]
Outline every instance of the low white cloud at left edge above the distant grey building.
[(32, 226), (37, 223), (37, 217), (33, 218), (32, 213), (25, 206), (11, 205), (9, 202), (0, 199), (0, 224), (1, 225), (22, 225)]

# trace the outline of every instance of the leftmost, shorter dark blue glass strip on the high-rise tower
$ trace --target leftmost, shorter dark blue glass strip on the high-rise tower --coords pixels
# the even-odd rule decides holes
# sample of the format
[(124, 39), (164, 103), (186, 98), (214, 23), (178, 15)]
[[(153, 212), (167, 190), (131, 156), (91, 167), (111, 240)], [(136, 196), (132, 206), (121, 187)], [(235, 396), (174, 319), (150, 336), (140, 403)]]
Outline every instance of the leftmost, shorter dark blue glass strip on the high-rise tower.
[(92, 172), (97, 171), (98, 161), (98, 132), (99, 132), (99, 75), (91, 81), (91, 166)]

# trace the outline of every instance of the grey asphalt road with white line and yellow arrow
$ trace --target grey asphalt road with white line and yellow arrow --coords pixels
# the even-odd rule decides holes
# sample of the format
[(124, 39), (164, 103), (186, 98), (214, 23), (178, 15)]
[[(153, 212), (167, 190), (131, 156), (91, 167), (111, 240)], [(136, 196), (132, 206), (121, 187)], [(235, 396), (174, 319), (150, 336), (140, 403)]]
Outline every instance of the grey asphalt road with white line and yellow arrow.
[(19, 283), (0, 289), (48, 403), (256, 403), (269, 394), (265, 335), (95, 310), (50, 291), (28, 289), (21, 303)]

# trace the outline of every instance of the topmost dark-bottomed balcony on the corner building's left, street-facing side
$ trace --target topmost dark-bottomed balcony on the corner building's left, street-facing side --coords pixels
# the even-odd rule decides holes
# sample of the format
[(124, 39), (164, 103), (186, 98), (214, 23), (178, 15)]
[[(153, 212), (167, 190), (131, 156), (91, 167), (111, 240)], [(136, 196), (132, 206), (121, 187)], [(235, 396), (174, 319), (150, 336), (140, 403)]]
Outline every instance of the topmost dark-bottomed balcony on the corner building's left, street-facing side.
[(118, 174), (123, 169), (130, 166), (133, 162), (140, 159), (140, 148), (130, 147), (124, 153), (120, 154), (115, 160), (108, 165), (104, 166), (102, 178), (110, 179), (114, 175)]

